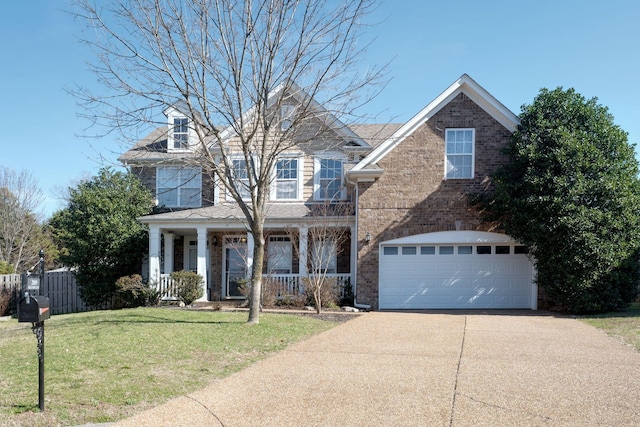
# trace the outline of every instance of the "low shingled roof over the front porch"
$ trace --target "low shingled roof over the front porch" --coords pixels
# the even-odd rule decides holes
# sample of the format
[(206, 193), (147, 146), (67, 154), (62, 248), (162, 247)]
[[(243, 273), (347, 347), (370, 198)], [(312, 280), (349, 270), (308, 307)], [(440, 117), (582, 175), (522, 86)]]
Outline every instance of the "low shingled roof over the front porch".
[[(267, 203), (266, 207), (267, 220), (275, 222), (278, 220), (291, 222), (292, 219), (311, 218), (311, 213), (310, 205), (304, 203)], [(317, 217), (315, 218), (317, 220)], [(145, 215), (138, 218), (138, 220), (145, 224), (175, 220), (179, 220), (182, 223), (202, 221), (207, 221), (207, 223), (235, 223), (237, 221), (244, 222), (245, 217), (236, 204), (221, 204), (205, 208)]]

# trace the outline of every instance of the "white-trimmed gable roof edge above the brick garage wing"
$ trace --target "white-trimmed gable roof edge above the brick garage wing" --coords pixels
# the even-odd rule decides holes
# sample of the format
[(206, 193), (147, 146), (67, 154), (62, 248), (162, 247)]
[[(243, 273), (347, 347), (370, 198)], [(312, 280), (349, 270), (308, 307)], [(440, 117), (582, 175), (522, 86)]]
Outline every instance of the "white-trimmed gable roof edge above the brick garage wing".
[(510, 132), (514, 132), (516, 130), (518, 117), (500, 101), (494, 98), (493, 95), (487, 92), (482, 86), (476, 83), (475, 80), (467, 74), (463, 74), (436, 99), (431, 101), (431, 103), (424, 107), (418, 114), (413, 116), (411, 120), (398, 128), (386, 141), (378, 145), (369, 155), (355, 165), (351, 171), (349, 171), (352, 178), (359, 176), (360, 171), (366, 171), (372, 165), (378, 163), (398, 144), (404, 141), (405, 138), (427, 122), (460, 93), (464, 93), (468, 96), (473, 102), (478, 104), (478, 106), (485, 110)]

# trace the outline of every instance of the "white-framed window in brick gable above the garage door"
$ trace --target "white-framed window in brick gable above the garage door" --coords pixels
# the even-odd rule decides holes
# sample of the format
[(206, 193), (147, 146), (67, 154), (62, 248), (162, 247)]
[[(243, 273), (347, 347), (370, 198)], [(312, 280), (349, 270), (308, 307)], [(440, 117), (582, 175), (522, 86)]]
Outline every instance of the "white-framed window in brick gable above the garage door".
[(473, 178), (474, 129), (447, 129), (445, 133), (447, 179)]

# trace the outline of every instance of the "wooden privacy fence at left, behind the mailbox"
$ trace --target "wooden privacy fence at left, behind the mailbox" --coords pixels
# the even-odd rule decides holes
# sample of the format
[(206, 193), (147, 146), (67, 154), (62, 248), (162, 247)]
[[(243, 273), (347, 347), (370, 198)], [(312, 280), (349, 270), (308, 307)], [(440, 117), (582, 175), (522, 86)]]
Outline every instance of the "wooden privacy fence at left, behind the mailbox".
[[(7, 289), (11, 295), (9, 310), (15, 313), (25, 275), (1, 274), (0, 289)], [(111, 304), (88, 306), (80, 298), (80, 289), (72, 271), (48, 271), (41, 284), (41, 295), (49, 298), (51, 314), (80, 313), (83, 311), (111, 308)]]

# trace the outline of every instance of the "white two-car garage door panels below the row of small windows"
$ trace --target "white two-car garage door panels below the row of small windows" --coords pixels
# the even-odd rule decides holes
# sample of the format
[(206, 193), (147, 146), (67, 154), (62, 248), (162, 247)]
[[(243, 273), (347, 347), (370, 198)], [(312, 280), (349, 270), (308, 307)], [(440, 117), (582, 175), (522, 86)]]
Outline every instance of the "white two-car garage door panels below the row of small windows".
[(494, 248), (491, 255), (398, 253), (380, 256), (380, 308), (532, 307), (534, 269), (513, 249), (496, 254)]

